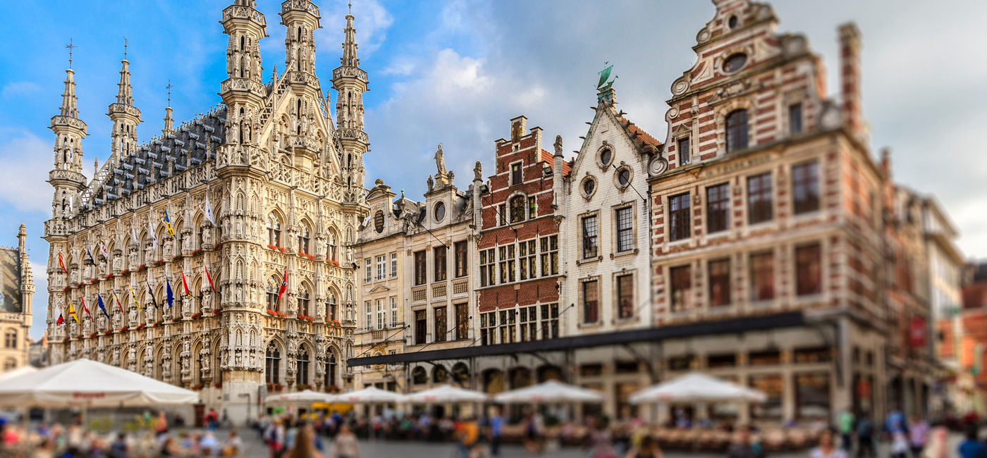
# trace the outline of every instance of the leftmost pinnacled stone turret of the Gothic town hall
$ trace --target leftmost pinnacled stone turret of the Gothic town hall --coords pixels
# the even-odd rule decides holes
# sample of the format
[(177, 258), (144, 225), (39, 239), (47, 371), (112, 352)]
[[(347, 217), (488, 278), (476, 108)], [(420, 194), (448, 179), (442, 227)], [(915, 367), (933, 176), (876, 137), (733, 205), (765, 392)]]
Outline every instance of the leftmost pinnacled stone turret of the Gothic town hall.
[(54, 187), (51, 199), (51, 217), (72, 217), (79, 192), (86, 188), (82, 175), (82, 139), (88, 135), (86, 123), (79, 118), (75, 97), (75, 71), (72, 70), (72, 51), (69, 43), (68, 68), (65, 69), (65, 90), (58, 114), (51, 116), (50, 128), (55, 132), (54, 168), (48, 172), (48, 183)]

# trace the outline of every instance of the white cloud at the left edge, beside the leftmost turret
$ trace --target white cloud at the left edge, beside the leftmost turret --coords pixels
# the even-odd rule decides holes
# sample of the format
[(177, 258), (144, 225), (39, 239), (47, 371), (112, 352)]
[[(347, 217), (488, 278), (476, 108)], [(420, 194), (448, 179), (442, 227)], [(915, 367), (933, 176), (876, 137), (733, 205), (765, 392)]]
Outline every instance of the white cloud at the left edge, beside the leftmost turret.
[(51, 142), (23, 129), (0, 130), (7, 137), (0, 143), (0, 200), (20, 211), (46, 212), (51, 209)]

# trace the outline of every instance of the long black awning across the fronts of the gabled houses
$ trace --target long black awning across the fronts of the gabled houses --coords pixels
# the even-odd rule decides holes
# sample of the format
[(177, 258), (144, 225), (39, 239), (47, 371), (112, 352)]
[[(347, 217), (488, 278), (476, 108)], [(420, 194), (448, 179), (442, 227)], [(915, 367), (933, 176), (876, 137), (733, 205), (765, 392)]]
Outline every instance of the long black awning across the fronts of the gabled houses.
[(534, 351), (563, 351), (571, 348), (586, 348), (614, 344), (634, 344), (639, 342), (660, 342), (666, 339), (679, 339), (695, 336), (735, 334), (746, 331), (763, 331), (789, 328), (805, 324), (801, 312), (786, 312), (774, 315), (734, 318), (729, 320), (689, 323), (685, 325), (645, 328), (614, 333), (586, 334), (545, 341), (518, 342), (514, 344), (493, 344), (463, 346), (460, 348), (410, 351), (407, 353), (382, 354), (349, 358), (346, 365), (368, 366), (372, 364), (394, 364), (403, 362), (435, 361), (442, 359), (466, 359), (477, 356), (496, 356)]

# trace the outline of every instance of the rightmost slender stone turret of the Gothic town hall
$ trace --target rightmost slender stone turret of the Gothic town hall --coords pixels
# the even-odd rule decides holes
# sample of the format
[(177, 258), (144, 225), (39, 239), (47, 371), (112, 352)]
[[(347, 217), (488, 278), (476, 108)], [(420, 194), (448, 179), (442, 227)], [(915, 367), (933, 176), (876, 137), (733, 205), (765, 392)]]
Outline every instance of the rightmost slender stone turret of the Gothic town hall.
[(363, 131), (363, 93), (367, 89), (367, 72), (356, 57), (356, 30), (353, 15), (346, 15), (345, 39), (342, 41), (342, 65), (333, 70), (336, 89), (337, 130), (342, 144), (342, 170), (350, 189), (363, 187), (363, 154), (370, 142)]

